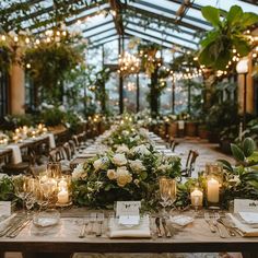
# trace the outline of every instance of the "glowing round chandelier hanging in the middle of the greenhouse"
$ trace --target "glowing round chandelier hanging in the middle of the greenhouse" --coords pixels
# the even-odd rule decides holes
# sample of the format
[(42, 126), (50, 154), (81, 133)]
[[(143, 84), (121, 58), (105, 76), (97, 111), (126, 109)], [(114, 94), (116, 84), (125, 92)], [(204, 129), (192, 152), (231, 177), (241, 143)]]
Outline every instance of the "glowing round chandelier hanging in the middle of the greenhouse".
[(140, 71), (140, 59), (129, 52), (119, 55), (118, 58), (118, 72), (121, 75), (129, 75)]

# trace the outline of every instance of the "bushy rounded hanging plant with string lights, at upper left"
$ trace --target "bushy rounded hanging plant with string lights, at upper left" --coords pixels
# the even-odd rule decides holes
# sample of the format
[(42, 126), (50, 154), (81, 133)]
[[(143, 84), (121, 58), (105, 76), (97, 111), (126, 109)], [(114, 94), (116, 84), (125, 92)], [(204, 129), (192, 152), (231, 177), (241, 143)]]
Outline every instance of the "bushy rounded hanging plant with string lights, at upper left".
[(40, 42), (36, 47), (26, 49), (22, 62), (27, 69), (37, 89), (45, 96), (60, 101), (66, 75), (83, 61), (82, 45), (73, 37), (54, 37), (50, 42)]

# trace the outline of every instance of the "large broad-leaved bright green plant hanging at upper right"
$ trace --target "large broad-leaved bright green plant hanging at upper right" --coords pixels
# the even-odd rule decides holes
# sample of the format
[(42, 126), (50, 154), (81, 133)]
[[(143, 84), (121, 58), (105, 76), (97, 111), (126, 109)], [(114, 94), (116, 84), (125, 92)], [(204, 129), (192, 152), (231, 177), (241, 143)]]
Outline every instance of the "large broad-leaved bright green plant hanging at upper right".
[(233, 49), (236, 49), (239, 57), (250, 51), (251, 43), (243, 33), (258, 23), (257, 14), (243, 12), (237, 5), (233, 5), (228, 12), (208, 5), (203, 7), (201, 12), (213, 26), (200, 43), (198, 59), (201, 64), (214, 70), (224, 70), (232, 60)]

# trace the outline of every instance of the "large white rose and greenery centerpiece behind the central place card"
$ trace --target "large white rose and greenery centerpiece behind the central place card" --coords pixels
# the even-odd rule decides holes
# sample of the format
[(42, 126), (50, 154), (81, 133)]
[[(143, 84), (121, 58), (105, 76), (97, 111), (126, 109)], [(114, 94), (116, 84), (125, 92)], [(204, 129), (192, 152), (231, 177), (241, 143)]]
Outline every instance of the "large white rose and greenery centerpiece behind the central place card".
[(151, 144), (118, 145), (73, 171), (73, 200), (79, 206), (102, 208), (112, 208), (119, 200), (143, 200), (152, 206), (157, 178), (179, 173), (180, 159), (163, 156)]

